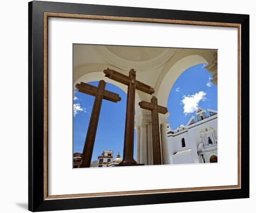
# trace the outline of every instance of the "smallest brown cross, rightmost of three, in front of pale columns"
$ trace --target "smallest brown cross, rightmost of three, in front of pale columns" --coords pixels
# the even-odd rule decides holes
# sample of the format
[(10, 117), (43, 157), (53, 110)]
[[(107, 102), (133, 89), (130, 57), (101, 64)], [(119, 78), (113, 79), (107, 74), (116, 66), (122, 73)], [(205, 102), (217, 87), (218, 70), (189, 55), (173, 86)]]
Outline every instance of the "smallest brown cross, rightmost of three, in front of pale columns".
[(158, 113), (166, 114), (168, 112), (166, 107), (157, 105), (157, 98), (153, 96), (151, 103), (146, 101), (139, 102), (141, 109), (151, 111), (152, 119), (152, 141), (153, 141), (153, 163), (154, 165), (162, 164), (161, 158), (161, 142)]

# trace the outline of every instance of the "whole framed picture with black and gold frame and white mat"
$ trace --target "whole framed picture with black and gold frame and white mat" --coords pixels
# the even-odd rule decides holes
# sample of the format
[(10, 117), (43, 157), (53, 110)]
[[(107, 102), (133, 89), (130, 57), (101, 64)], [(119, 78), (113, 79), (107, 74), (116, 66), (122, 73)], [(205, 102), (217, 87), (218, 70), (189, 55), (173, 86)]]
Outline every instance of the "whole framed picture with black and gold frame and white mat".
[(249, 197), (249, 15), (28, 8), (30, 211)]

